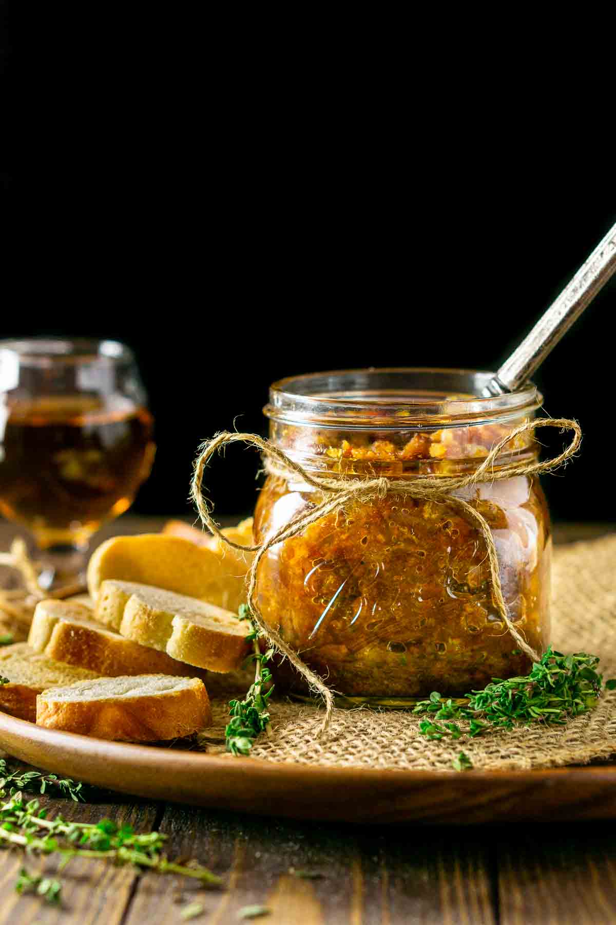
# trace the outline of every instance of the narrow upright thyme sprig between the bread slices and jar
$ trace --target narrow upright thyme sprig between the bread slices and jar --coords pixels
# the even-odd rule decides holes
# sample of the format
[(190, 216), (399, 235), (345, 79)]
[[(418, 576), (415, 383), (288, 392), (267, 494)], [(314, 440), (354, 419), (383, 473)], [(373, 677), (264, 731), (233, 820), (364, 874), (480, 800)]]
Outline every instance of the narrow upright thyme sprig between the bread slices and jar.
[(266, 667), (266, 663), (272, 658), (273, 649), (269, 648), (266, 652), (261, 652), (260, 629), (250, 619), (247, 604), (240, 605), (237, 619), (245, 620), (250, 624), (250, 632), (246, 641), (252, 644), (252, 655), (249, 658), (255, 662), (255, 681), (248, 688), (248, 694), (244, 700), (229, 701), (231, 720), (224, 730), (224, 738), (227, 751), (230, 751), (232, 755), (248, 755), (254, 740), (260, 733), (265, 731), (268, 735), (272, 734), (268, 700), (272, 696), (273, 685), (267, 691), (264, 691), (263, 687), (272, 681), (272, 673)]

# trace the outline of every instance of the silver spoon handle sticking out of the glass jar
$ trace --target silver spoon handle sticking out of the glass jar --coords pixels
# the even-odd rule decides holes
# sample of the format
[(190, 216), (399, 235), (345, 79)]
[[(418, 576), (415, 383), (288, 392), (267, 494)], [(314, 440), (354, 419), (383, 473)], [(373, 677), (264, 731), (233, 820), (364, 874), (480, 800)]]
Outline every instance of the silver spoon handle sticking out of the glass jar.
[(483, 388), (483, 395), (487, 398), (491, 395), (505, 395), (524, 385), (565, 331), (579, 318), (598, 291), (603, 289), (615, 270), (616, 225), (612, 225), (586, 263), (580, 266), (548, 311), (541, 315), (532, 331)]

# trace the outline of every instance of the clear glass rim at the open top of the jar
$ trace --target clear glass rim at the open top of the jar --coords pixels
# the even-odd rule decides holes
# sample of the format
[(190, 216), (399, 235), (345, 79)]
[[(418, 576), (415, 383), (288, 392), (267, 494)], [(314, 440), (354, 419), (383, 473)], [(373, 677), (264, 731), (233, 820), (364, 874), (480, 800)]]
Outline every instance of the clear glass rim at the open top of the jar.
[(272, 383), (263, 413), (322, 427), (400, 429), (461, 426), (531, 414), (543, 396), (533, 383), (484, 397), (487, 370), (394, 366), (287, 376)]

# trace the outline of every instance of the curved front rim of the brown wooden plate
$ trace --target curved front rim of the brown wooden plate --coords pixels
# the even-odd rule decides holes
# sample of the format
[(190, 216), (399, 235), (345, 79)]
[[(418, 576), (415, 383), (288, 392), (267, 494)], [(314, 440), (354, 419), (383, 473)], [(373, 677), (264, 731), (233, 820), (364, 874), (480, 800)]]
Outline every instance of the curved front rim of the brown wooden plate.
[(467, 824), (616, 818), (616, 766), (378, 771), (106, 742), (0, 713), (0, 746), (45, 771), (133, 796), (294, 819)]

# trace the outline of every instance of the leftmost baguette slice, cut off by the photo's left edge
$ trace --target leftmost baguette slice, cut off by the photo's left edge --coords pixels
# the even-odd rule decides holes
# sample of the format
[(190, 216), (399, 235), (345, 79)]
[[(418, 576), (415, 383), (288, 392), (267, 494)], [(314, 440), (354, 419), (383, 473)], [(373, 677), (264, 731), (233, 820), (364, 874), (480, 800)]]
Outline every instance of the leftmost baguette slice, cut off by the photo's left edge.
[(3, 646), (0, 648), (0, 675), (8, 678), (8, 684), (0, 685), (0, 709), (20, 720), (35, 722), (36, 696), (45, 687), (71, 685), (97, 678), (99, 674), (48, 659), (25, 642)]

